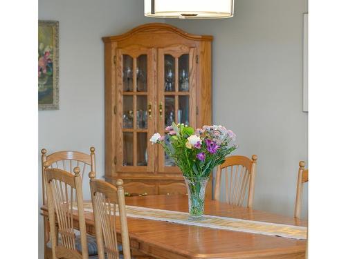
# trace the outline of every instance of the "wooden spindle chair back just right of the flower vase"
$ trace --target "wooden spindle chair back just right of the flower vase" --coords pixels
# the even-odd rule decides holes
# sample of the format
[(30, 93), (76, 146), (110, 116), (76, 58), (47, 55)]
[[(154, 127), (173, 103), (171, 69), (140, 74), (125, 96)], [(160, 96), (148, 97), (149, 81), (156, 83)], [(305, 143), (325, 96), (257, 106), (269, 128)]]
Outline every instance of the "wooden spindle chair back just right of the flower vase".
[(252, 160), (242, 155), (232, 155), (226, 157), (223, 164), (217, 166), (215, 183), (215, 200), (220, 200), (221, 175), (224, 175), (224, 188), (226, 202), (237, 206), (244, 206), (246, 193), (248, 208), (253, 207), (253, 192), (255, 189), (257, 155), (252, 156)]

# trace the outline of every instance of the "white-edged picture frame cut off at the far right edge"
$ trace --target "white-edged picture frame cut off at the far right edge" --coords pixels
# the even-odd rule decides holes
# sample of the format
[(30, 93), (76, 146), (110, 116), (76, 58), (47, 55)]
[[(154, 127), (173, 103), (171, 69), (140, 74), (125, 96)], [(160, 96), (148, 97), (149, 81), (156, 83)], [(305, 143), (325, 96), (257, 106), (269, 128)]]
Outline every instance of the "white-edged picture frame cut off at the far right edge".
[(308, 14), (303, 14), (303, 112), (309, 111), (308, 105)]

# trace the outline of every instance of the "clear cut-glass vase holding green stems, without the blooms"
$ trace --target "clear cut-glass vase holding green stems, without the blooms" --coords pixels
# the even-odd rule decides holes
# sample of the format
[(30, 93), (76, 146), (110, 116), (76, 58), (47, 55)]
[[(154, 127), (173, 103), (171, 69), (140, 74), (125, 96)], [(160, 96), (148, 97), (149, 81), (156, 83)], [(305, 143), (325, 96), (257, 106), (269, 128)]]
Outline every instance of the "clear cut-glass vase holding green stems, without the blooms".
[(193, 179), (184, 176), (184, 179), (189, 195), (189, 220), (201, 220), (204, 213), (204, 198), (209, 178)]

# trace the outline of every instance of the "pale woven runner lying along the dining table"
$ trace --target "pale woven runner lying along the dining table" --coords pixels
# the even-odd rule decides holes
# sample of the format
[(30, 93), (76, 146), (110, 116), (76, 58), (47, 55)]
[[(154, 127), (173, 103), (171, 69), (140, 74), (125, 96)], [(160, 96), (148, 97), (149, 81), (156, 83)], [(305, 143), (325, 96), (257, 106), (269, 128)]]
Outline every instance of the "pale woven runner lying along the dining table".
[[(73, 209), (77, 209), (77, 204), (73, 204)], [(84, 211), (93, 212), (91, 202), (84, 202)], [(126, 213), (127, 217), (130, 218), (158, 220), (178, 224), (187, 224), (190, 226), (209, 227), (212, 229), (241, 231), (246, 233), (257, 233), (268, 236), (293, 238), (298, 240), (307, 239), (307, 227), (260, 222), (254, 220), (242, 220), (239, 218), (226, 218), (215, 215), (203, 215), (202, 220), (193, 221), (188, 219), (189, 213), (129, 205), (126, 206)], [(118, 215), (118, 208), (116, 209), (116, 215)]]

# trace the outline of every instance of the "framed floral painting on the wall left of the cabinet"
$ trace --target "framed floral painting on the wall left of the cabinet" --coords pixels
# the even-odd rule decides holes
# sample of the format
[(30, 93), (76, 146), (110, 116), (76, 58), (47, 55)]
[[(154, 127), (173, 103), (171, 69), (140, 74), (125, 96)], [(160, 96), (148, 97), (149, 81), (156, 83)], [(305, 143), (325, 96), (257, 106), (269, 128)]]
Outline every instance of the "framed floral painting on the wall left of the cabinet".
[(59, 22), (39, 21), (39, 110), (59, 110)]

